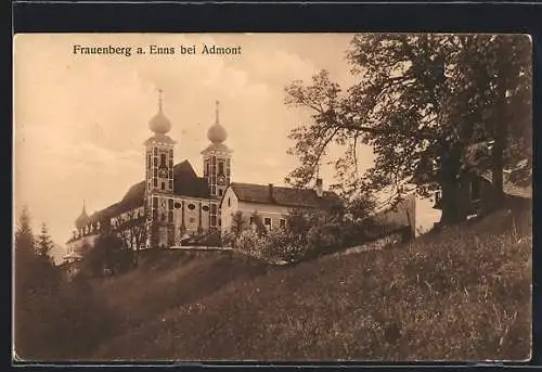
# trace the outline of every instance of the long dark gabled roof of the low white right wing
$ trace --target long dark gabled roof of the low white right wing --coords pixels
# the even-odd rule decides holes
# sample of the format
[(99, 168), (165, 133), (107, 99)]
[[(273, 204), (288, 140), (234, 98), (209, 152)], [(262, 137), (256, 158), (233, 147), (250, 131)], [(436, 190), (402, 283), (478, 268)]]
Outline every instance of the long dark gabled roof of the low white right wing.
[(271, 185), (232, 182), (230, 187), (242, 202), (311, 208), (327, 208), (340, 203), (338, 195), (330, 191), (319, 197), (312, 189), (273, 185), (271, 193)]

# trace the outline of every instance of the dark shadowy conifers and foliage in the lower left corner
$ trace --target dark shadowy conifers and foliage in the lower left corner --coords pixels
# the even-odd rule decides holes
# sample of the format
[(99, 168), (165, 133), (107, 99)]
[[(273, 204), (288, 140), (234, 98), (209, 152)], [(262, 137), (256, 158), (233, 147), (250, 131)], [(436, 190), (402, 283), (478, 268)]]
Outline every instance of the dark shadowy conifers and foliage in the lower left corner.
[(33, 235), (25, 208), (15, 232), (14, 352), (18, 360), (76, 359), (107, 335), (108, 309), (79, 278), (68, 282), (47, 255), (47, 228)]

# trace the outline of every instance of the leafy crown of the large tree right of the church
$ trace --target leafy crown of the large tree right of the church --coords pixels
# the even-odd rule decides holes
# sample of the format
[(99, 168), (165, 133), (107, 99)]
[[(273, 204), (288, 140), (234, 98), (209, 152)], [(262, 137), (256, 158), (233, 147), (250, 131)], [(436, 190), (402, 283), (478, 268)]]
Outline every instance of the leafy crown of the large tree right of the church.
[[(286, 87), (287, 104), (312, 111), (311, 121), (291, 133), (296, 141), (291, 153), (300, 165), (287, 181), (307, 185), (330, 147), (339, 145), (346, 151), (335, 163), (335, 187), (344, 195), (386, 187), (400, 194), (424, 175), (417, 193), (429, 196), (441, 189), (441, 221), (461, 219), (457, 187), (466, 149), (491, 141), (491, 158), (479, 162), (491, 164), (500, 190), (506, 156), (514, 157), (508, 153), (526, 155), (529, 41), (504, 35), (356, 36), (347, 51), (356, 85), (343, 91), (320, 72), (309, 86), (294, 81)], [(358, 174), (361, 143), (376, 157), (363, 177)]]

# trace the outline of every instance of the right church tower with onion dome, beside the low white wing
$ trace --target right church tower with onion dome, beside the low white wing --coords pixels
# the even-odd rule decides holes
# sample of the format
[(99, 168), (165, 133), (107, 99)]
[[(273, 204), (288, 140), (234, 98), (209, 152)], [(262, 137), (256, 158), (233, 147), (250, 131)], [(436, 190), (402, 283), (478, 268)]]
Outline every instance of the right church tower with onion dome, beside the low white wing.
[(215, 124), (207, 130), (207, 138), (210, 144), (202, 151), (204, 161), (204, 178), (209, 184), (209, 194), (211, 197), (210, 207), (210, 228), (219, 228), (220, 221), (220, 200), (230, 184), (231, 179), (231, 154), (224, 142), (228, 139), (228, 132), (220, 124), (220, 103), (216, 102)]

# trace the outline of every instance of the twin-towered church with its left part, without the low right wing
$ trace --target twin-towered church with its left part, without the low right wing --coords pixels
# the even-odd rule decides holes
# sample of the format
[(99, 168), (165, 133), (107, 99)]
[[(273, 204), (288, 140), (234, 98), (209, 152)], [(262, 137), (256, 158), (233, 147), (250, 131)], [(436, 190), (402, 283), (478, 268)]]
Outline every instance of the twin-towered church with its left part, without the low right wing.
[(145, 179), (107, 208), (88, 215), (85, 208), (67, 242), (68, 255), (92, 246), (103, 229), (111, 229), (134, 249), (180, 245), (186, 235), (220, 231), (220, 200), (231, 180), (228, 133), (219, 120), (208, 129), (209, 145), (202, 151), (204, 175), (198, 177), (189, 161), (173, 164), (176, 141), (168, 132), (162, 94), (158, 113), (150, 120), (153, 134), (144, 142)]

